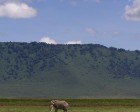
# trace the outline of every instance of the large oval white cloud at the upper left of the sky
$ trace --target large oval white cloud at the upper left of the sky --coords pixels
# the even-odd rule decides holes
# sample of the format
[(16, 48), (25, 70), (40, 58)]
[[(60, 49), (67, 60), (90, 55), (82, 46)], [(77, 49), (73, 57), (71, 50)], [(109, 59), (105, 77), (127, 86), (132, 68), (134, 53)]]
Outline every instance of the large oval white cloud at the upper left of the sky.
[(37, 11), (25, 3), (5, 2), (0, 4), (0, 17), (9, 18), (31, 18), (36, 15)]

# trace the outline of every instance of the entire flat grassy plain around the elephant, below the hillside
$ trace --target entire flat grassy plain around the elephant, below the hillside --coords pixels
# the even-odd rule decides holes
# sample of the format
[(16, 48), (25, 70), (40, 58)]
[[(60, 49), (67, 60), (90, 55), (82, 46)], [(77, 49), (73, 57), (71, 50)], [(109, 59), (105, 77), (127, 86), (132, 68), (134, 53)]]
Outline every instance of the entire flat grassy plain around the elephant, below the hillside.
[[(140, 99), (66, 99), (69, 112), (140, 112)], [(0, 112), (49, 112), (48, 99), (0, 99)], [(62, 112), (62, 110), (59, 110)]]

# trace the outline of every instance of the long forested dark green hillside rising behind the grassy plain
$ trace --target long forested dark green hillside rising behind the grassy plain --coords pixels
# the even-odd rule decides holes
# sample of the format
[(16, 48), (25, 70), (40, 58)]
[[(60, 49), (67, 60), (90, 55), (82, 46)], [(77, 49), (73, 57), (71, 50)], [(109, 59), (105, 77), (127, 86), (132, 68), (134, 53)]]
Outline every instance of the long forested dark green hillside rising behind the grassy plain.
[(138, 50), (0, 43), (0, 97), (140, 97), (139, 87)]

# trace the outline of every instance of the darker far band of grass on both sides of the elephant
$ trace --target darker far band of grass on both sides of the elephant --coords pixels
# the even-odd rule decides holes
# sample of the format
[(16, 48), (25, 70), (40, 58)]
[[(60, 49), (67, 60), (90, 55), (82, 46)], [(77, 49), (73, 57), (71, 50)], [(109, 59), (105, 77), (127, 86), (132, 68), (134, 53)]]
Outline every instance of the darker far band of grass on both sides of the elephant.
[[(140, 99), (65, 99), (72, 107), (140, 106)], [(2, 106), (48, 106), (51, 99), (0, 99)]]

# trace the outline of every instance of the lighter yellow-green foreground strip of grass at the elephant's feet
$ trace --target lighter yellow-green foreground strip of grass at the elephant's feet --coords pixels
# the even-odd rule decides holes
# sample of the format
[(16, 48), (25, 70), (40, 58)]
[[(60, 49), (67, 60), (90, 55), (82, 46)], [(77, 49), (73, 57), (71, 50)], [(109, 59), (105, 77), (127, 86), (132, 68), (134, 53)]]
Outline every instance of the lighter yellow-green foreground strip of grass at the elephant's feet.
[[(1, 106), (0, 112), (49, 112), (47, 106)], [(63, 112), (58, 110), (58, 112)], [(69, 112), (140, 112), (139, 106), (71, 107)]]

